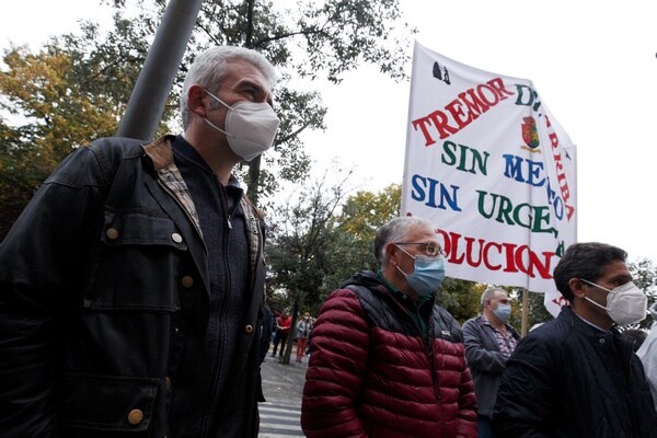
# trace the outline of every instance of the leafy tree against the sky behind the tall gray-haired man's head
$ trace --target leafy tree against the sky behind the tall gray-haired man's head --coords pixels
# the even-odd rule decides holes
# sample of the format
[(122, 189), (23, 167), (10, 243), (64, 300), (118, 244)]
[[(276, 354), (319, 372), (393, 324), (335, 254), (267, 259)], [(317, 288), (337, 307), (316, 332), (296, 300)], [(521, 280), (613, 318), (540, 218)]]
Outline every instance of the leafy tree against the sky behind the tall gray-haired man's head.
[[(104, 0), (119, 14), (127, 13), (125, 0)], [(131, 22), (141, 38), (154, 34), (165, 10), (162, 0), (136, 0), (139, 13)], [(277, 95), (277, 112), (281, 125), (274, 150), (244, 169), (249, 196), (258, 204), (263, 194), (274, 193), (278, 177), (286, 181), (303, 178), (310, 161), (299, 134), (306, 129), (324, 129), (326, 108), (320, 94), (301, 90), (299, 81), (315, 81), (324, 77), (337, 84), (346, 71), (360, 62), (378, 65), (394, 79), (404, 79), (408, 56), (408, 36), (415, 33), (400, 22), (399, 0), (326, 0), (299, 1), (296, 8), (280, 7), (269, 1), (205, 1), (192, 35), (188, 51), (181, 66), (181, 78), (172, 100), (177, 100), (182, 74), (186, 66), (209, 44), (245, 46), (263, 53), (283, 73)], [(146, 57), (143, 53), (142, 59)], [(274, 172), (273, 170), (278, 170)]]

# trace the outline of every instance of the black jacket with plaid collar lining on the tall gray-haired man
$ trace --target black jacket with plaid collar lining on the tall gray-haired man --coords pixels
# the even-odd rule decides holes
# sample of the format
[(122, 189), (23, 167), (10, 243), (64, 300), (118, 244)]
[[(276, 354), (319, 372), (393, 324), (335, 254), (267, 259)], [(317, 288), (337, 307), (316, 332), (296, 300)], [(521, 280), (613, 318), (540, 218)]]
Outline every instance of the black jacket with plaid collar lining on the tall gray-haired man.
[[(209, 279), (172, 141), (79, 148), (0, 245), (1, 436), (185, 436), (178, 426), (204, 371)], [(241, 208), (253, 292), (223, 372), (246, 383), (224, 396), (247, 394), (242, 436), (255, 437), (263, 239), (254, 209)]]

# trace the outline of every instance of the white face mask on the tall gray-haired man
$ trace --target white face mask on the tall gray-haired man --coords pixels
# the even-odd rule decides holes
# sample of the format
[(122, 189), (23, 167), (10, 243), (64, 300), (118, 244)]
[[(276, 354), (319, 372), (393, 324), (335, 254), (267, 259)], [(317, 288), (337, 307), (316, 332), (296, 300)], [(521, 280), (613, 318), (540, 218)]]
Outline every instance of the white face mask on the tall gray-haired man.
[(269, 104), (264, 102), (241, 101), (229, 106), (221, 99), (205, 90), (206, 93), (228, 108), (226, 130), (210, 120), (206, 123), (226, 135), (230, 149), (246, 161), (265, 152), (274, 143), (280, 120)]

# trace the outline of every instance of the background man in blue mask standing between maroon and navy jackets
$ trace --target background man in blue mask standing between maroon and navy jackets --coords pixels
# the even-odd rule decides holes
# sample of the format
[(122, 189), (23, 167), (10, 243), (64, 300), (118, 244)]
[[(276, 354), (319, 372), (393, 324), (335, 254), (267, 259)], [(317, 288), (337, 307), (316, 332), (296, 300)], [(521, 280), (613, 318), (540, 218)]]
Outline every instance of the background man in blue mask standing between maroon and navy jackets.
[(506, 290), (488, 288), (482, 293), (481, 301), (482, 314), (465, 321), (463, 339), (479, 407), (477, 437), (492, 438), (495, 435), (491, 418), (499, 379), (520, 335), (508, 324), (511, 304)]

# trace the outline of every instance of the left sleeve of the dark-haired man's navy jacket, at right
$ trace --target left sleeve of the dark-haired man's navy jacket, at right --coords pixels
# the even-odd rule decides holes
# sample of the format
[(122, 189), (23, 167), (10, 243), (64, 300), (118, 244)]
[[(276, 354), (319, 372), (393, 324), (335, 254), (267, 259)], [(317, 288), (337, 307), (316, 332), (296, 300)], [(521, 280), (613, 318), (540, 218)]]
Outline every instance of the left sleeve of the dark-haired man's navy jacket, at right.
[(550, 438), (555, 387), (553, 348), (542, 338), (525, 337), (502, 374), (493, 427), (496, 436)]

